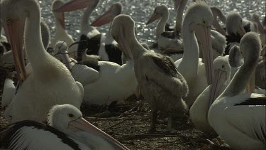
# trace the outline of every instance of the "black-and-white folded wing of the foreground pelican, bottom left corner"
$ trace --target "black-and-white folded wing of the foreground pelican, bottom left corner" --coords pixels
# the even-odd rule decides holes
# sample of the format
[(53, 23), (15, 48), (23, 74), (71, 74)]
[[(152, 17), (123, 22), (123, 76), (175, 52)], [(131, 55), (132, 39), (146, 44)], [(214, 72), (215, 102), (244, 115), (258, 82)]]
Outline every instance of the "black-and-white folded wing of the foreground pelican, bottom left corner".
[(79, 149), (79, 145), (57, 129), (39, 122), (25, 120), (11, 124), (1, 132), (4, 149)]

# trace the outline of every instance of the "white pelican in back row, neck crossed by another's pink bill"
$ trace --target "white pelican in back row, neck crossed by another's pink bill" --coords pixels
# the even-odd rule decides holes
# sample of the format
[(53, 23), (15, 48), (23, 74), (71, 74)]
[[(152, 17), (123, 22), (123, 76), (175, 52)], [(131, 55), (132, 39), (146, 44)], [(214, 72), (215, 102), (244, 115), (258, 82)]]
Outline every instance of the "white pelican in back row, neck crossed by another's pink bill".
[[(62, 0), (52, 1), (52, 10), (60, 8), (60, 6), (63, 6), (64, 4), (65, 3)], [(56, 11), (52, 11), (52, 14), (55, 16), (55, 38), (52, 39), (50, 47), (55, 48), (55, 44), (58, 41), (65, 41), (67, 46), (70, 46), (72, 43), (74, 43), (74, 40), (72, 36), (70, 36), (70, 34), (68, 34), (65, 30), (65, 14), (63, 12)], [(76, 59), (77, 45), (72, 45), (68, 52), (70, 53), (70, 58)], [(60, 56), (55, 53), (55, 57), (59, 58)]]

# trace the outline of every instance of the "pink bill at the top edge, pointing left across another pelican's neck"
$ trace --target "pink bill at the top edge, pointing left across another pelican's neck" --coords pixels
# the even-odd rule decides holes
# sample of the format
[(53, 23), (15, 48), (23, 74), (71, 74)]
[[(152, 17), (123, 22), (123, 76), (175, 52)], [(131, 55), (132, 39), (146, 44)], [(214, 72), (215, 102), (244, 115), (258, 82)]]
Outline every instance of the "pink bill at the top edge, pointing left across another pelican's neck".
[(79, 9), (84, 9), (87, 6), (92, 6), (93, 8), (97, 6), (99, 0), (72, 0), (59, 8), (52, 9), (55, 12), (68, 12), (68, 11), (76, 11)]

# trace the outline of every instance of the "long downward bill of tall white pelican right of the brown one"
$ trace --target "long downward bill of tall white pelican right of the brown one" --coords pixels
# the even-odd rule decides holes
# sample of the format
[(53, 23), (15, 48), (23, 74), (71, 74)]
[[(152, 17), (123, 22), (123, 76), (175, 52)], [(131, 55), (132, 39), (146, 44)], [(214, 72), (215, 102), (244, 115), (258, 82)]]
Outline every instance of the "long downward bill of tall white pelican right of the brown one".
[(204, 57), (205, 72), (208, 85), (214, 82), (214, 59), (211, 48), (211, 27), (210, 26), (198, 26), (196, 31), (196, 37), (202, 45), (202, 53)]

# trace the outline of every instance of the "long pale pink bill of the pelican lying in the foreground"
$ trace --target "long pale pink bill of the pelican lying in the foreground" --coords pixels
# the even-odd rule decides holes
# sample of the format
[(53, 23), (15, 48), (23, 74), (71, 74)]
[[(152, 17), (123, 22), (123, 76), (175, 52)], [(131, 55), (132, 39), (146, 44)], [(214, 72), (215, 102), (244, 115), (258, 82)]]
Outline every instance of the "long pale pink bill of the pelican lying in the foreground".
[(111, 142), (111, 144), (118, 146), (119, 149), (128, 150), (128, 147), (124, 146), (123, 144), (121, 144), (116, 139), (113, 139), (112, 136), (101, 131), (101, 129), (99, 129), (99, 128), (95, 127), (93, 124), (87, 122), (87, 120), (85, 120), (82, 117), (71, 121), (68, 125), (69, 125), (69, 128), (72, 130), (73, 129), (76, 131), (81, 130), (81, 131), (92, 133), (92, 134), (97, 135), (97, 136), (101, 136), (103, 139), (106, 139), (106, 141)]

